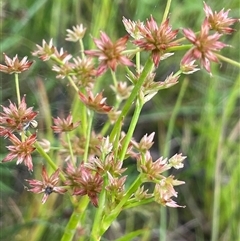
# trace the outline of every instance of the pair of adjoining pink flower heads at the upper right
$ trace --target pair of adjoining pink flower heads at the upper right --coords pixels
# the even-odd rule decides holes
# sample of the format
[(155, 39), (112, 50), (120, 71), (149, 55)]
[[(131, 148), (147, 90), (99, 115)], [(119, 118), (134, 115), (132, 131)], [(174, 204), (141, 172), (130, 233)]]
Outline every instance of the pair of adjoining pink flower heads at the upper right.
[[(231, 34), (234, 30), (229, 26), (238, 21), (228, 18), (229, 10), (227, 12), (221, 10), (219, 13), (213, 14), (211, 8), (205, 2), (204, 11), (206, 18), (199, 34), (195, 34), (191, 29), (183, 29), (184, 36), (193, 44), (193, 47), (184, 55), (181, 65), (184, 66), (183, 69), (189, 69), (190, 72), (196, 70), (195, 60), (200, 60), (201, 66), (209, 73), (211, 72), (210, 63), (219, 63), (215, 52), (227, 46), (227, 44), (219, 41), (220, 37), (222, 34)], [(211, 29), (216, 32), (211, 34)]]

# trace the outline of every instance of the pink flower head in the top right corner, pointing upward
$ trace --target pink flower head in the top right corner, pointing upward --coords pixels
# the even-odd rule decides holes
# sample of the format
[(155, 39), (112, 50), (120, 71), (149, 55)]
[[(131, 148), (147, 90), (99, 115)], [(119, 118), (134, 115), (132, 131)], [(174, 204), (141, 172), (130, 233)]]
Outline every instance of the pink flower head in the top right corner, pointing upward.
[(235, 31), (229, 26), (233, 25), (235, 22), (239, 22), (239, 19), (233, 19), (228, 17), (230, 9), (228, 9), (226, 12), (224, 12), (224, 9), (222, 9), (220, 12), (215, 11), (213, 13), (210, 6), (208, 6), (205, 2), (203, 2), (203, 4), (203, 9), (211, 29), (223, 34), (231, 34), (233, 31)]

